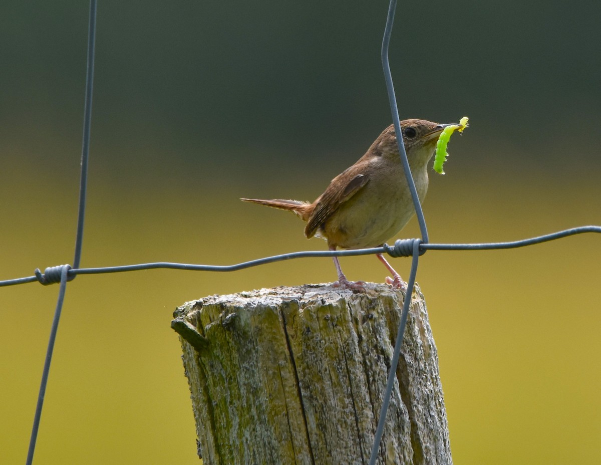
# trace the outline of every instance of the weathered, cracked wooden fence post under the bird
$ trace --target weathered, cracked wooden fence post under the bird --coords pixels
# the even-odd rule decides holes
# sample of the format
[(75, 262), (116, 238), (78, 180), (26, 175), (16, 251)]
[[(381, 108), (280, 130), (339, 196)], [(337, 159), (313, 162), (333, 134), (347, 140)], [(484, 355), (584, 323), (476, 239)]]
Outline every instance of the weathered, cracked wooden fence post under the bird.
[[(367, 464), (404, 293), (326, 285), (175, 310), (207, 465)], [(438, 356), (416, 287), (379, 464), (451, 464)]]

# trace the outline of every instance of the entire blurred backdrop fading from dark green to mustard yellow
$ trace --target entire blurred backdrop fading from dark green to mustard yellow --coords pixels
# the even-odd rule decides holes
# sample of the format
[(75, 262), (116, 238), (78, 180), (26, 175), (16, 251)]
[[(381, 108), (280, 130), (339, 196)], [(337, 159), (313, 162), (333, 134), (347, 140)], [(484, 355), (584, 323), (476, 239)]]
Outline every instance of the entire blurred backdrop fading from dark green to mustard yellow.
[[(391, 123), (387, 9), (100, 1), (82, 266), (324, 250), (292, 215), (238, 198), (313, 200)], [(400, 2), (401, 118), (471, 122), (430, 177), (433, 242), (601, 224), (599, 17), (596, 1)], [(0, 3), (0, 279), (73, 260), (87, 22), (87, 2)], [(421, 258), (457, 464), (601, 461), (600, 241)], [(385, 277), (373, 257), (341, 261), (350, 279)], [(78, 277), (35, 463), (198, 463), (172, 310), (334, 279), (329, 259)], [(57, 292), (0, 289), (2, 464), (25, 461)]]

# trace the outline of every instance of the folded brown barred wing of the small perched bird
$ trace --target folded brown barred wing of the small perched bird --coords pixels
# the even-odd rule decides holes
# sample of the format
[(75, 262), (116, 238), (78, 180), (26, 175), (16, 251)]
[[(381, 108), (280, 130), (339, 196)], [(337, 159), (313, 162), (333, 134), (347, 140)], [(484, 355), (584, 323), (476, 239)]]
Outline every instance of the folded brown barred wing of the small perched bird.
[(361, 173), (364, 167), (353, 165), (341, 174), (338, 174), (328, 186), (325, 192), (317, 199), (313, 213), (307, 221), (305, 236), (312, 238), (320, 226), (328, 221), (328, 218), (343, 205), (344, 202), (353, 197), (369, 180), (367, 174)]

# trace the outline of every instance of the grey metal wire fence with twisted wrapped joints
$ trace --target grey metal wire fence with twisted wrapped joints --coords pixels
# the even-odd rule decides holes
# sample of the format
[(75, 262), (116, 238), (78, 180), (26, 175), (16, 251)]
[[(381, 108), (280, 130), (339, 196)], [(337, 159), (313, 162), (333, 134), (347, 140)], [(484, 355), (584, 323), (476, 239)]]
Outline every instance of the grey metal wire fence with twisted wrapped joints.
[[(394, 85), (392, 83), (392, 76), (388, 61), (388, 49), (389, 42), (392, 33), (392, 24), (394, 22), (394, 14), (396, 8), (396, 0), (391, 0), (388, 8), (388, 16), (386, 18), (386, 26), (382, 40), (382, 66), (386, 82), (386, 89), (388, 91), (389, 103), (392, 112), (392, 120), (394, 122), (396, 134), (400, 134), (400, 121), (398, 116), (397, 100), (394, 93)], [(85, 108), (84, 108), (84, 134), (82, 138), (82, 158), (81, 158), (81, 181), (79, 189), (79, 210), (78, 210), (78, 224), (75, 241), (75, 257), (73, 259), (73, 266), (71, 265), (59, 265), (46, 268), (42, 273), (40, 269), (35, 269), (33, 276), (20, 277), (16, 279), (8, 279), (0, 281), (0, 287), (20, 285), (31, 282), (39, 282), (43, 285), (50, 285), (53, 283), (59, 283), (58, 298), (56, 300), (55, 315), (52, 320), (52, 327), (50, 329), (50, 336), (48, 341), (48, 347), (46, 351), (46, 359), (44, 360), (44, 368), (41, 377), (40, 390), (38, 393), (37, 405), (35, 407), (34, 422), (31, 431), (31, 439), (29, 442), (29, 449), (26, 464), (31, 464), (33, 461), (35, 444), (38, 436), (38, 429), (40, 426), (41, 411), (43, 408), (44, 394), (46, 392), (46, 385), (48, 375), (50, 371), (50, 362), (52, 360), (52, 352), (56, 340), (56, 332), (58, 330), (58, 324), (61, 316), (61, 310), (63, 309), (63, 300), (67, 289), (67, 282), (75, 279), (79, 274), (103, 274), (103, 273), (123, 273), (126, 271), (139, 271), (142, 269), (156, 269), (156, 268), (169, 268), (169, 269), (185, 269), (189, 271), (213, 271), (213, 272), (230, 272), (237, 271), (239, 269), (251, 268), (252, 266), (265, 265), (267, 263), (279, 262), (282, 260), (306, 258), (306, 257), (333, 257), (333, 256), (358, 256), (368, 255), (377, 253), (388, 253), (392, 257), (412, 257), (412, 265), (409, 273), (409, 280), (407, 282), (407, 295), (410, 296), (410, 289), (415, 285), (415, 277), (417, 273), (419, 256), (426, 253), (427, 250), (493, 250), (493, 249), (507, 249), (525, 247), (528, 245), (540, 244), (546, 241), (553, 241), (555, 239), (565, 238), (581, 233), (601, 233), (601, 226), (581, 226), (566, 229), (554, 233), (550, 233), (543, 236), (537, 236), (534, 238), (520, 239), (517, 241), (510, 242), (490, 242), (481, 244), (431, 244), (429, 242), (426, 218), (424, 217), (421, 205), (418, 200), (415, 183), (413, 182), (411, 171), (409, 169), (409, 162), (407, 161), (407, 155), (403, 146), (403, 138), (398, 137), (398, 151), (400, 153), (401, 162), (404, 167), (406, 174), (406, 180), (410, 188), (410, 192), (413, 198), (413, 205), (415, 206), (416, 217), (419, 223), (419, 230), (421, 232), (421, 239), (401, 239), (394, 243), (394, 245), (384, 244), (382, 247), (365, 248), (359, 250), (328, 250), (328, 251), (301, 251), (293, 252), (281, 255), (275, 255), (270, 257), (263, 257), (256, 260), (250, 260), (248, 262), (236, 263), (234, 265), (197, 265), (190, 263), (172, 263), (172, 262), (153, 262), (153, 263), (138, 263), (135, 265), (121, 265), (121, 266), (106, 266), (100, 268), (79, 268), (81, 262), (81, 251), (84, 236), (84, 217), (85, 217), (85, 206), (86, 206), (86, 194), (87, 194), (87, 171), (88, 171), (88, 160), (90, 158), (90, 128), (91, 128), (91, 111), (92, 111), (92, 96), (93, 96), (93, 82), (94, 82), (94, 51), (96, 42), (96, 10), (97, 0), (90, 1), (90, 16), (88, 25), (88, 55), (87, 55), (87, 75), (86, 75), (86, 87), (85, 87)], [(403, 310), (401, 313), (401, 320), (398, 326), (397, 337), (395, 340), (394, 352), (391, 360), (391, 367), (388, 373), (388, 380), (386, 384), (386, 390), (384, 394), (382, 408), (380, 410), (379, 422), (374, 437), (373, 448), (370, 456), (370, 465), (376, 463), (377, 454), (380, 448), (380, 440), (382, 439), (383, 427), (386, 418), (386, 412), (388, 410), (388, 404), (391, 398), (392, 387), (394, 386), (394, 380), (396, 377), (397, 363), (400, 356), (401, 345), (403, 342), (403, 333), (407, 321), (407, 315), (409, 312), (410, 298), (405, 299), (403, 304)]]

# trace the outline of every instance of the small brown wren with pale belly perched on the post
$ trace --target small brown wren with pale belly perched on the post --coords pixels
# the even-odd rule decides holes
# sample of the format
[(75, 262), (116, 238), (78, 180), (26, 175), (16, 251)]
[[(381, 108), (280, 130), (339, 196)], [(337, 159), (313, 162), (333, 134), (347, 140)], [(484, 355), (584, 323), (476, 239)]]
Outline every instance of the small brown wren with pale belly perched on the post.
[[(444, 128), (459, 123), (439, 124), (409, 119), (400, 122), (407, 161), (419, 202), (428, 190), (428, 164)], [(371, 144), (365, 155), (338, 174), (317, 199), (310, 202), (284, 199), (240, 199), (293, 212), (305, 221), (305, 236), (328, 242), (329, 250), (380, 247), (409, 222), (415, 207), (403, 164), (398, 154), (394, 125), (388, 126)], [(385, 282), (406, 290), (406, 283), (381, 253), (377, 258), (392, 277)], [(366, 283), (350, 281), (344, 275), (338, 257), (332, 257), (338, 274), (334, 287), (364, 292)]]

